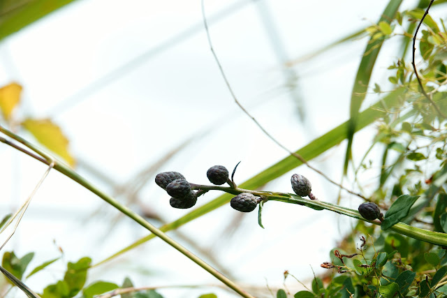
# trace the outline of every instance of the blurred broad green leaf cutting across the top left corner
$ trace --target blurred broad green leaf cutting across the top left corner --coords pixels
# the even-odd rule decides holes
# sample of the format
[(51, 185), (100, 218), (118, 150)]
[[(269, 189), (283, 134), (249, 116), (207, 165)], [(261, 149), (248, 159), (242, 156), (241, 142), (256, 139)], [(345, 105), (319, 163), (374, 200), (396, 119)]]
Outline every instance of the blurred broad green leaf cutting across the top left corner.
[(0, 40), (72, 1), (73, 0), (1, 1)]

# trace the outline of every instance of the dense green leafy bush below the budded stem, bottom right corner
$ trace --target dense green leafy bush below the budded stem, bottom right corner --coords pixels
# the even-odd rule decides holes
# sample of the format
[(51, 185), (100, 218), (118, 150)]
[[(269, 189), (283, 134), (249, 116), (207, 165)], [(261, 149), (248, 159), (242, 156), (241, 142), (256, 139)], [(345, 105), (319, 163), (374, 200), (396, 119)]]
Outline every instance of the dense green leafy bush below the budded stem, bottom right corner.
[[(382, 233), (374, 244), (362, 244), (358, 253), (330, 252), (332, 269), (322, 278), (314, 276), (312, 290), (294, 297), (444, 297), (447, 295), (446, 251), (400, 234)], [(428, 251), (427, 251), (428, 250)], [(283, 295), (284, 292), (284, 295)], [(279, 290), (277, 297), (286, 297)]]

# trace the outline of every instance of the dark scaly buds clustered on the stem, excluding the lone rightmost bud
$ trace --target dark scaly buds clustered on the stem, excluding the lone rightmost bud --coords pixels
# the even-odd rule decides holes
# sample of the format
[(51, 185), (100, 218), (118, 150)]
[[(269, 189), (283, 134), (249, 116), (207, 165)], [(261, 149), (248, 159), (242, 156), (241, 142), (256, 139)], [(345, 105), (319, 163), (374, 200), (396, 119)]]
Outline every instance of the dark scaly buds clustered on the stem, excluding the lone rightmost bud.
[[(171, 196), (170, 205), (174, 208), (191, 208), (196, 204), (197, 198), (200, 195), (207, 193), (207, 191), (217, 190), (235, 195), (230, 201), (230, 206), (233, 209), (241, 212), (251, 212), (256, 209), (258, 204), (266, 202), (268, 200), (268, 194), (271, 193), (237, 188), (233, 180), (237, 165), (233, 170), (233, 174), (231, 174), (231, 179), (228, 170), (223, 165), (210, 167), (207, 170), (207, 178), (214, 186), (192, 184), (179, 172), (162, 172), (157, 174), (155, 183)], [(228, 184), (229, 187), (221, 186), (223, 184)], [(293, 174), (291, 184), (293, 191), (300, 197), (309, 196), (312, 200), (316, 200), (315, 196), (311, 193), (312, 185), (306, 177), (300, 174)], [(288, 196), (290, 197), (290, 194)]]

